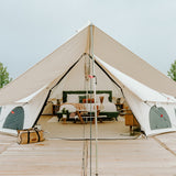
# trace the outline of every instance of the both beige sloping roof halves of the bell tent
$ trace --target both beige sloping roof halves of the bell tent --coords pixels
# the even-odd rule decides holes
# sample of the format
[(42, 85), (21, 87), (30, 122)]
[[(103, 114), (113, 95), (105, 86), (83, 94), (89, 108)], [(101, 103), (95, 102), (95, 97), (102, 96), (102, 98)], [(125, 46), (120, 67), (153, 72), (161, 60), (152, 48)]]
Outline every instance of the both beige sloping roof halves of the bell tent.
[[(86, 26), (52, 54), (0, 90), (0, 105), (36, 92), (59, 79), (84, 53), (89, 53), (89, 26)], [(103, 62), (147, 87), (176, 96), (176, 84), (123, 45), (94, 25), (94, 53)]]

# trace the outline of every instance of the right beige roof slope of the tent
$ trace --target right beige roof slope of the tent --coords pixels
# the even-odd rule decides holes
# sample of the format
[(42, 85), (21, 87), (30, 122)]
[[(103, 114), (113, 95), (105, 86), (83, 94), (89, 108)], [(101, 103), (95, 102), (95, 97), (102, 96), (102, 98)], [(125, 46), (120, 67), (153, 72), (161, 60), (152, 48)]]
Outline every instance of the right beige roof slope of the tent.
[(176, 84), (95, 26), (95, 55), (147, 87), (176, 97)]

